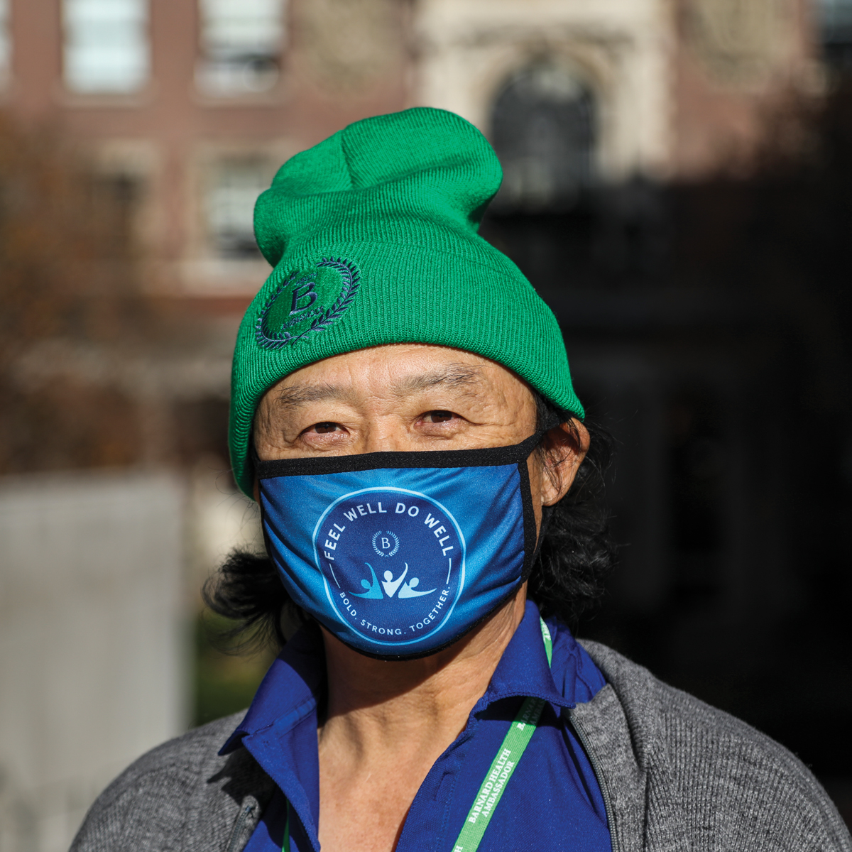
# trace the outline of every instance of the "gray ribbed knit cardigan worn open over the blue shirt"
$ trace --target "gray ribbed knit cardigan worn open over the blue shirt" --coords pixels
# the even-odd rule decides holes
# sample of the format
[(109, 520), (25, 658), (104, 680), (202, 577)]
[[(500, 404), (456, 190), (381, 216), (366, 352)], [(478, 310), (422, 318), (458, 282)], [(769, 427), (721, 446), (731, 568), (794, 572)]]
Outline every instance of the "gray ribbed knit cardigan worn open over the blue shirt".
[[(831, 800), (796, 757), (744, 722), (596, 642), (607, 679), (570, 711), (607, 806), (613, 852), (852, 852)], [(101, 793), (72, 852), (238, 852), (273, 781), (245, 749), (216, 752), (239, 715), (149, 751)]]

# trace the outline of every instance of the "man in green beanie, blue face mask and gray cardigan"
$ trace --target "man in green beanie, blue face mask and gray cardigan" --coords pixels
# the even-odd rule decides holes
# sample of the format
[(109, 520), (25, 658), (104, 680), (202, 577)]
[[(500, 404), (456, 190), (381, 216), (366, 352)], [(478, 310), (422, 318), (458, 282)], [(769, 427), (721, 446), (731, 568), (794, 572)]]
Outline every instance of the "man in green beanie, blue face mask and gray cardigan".
[(569, 630), (613, 561), (607, 441), (477, 233), (500, 181), (417, 108), (262, 194), (229, 440), (267, 554), (208, 598), (283, 649), (245, 714), (120, 775), (76, 852), (852, 849), (782, 746)]

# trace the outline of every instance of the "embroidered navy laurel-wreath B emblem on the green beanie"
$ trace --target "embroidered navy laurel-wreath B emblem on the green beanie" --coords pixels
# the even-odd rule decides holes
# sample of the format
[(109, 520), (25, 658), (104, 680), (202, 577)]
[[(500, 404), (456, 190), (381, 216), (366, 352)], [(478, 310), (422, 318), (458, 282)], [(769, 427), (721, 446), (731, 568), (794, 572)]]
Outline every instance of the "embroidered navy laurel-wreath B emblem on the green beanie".
[(255, 339), (265, 349), (280, 349), (325, 331), (352, 307), (360, 273), (342, 257), (324, 257), (313, 270), (288, 274), (263, 303)]

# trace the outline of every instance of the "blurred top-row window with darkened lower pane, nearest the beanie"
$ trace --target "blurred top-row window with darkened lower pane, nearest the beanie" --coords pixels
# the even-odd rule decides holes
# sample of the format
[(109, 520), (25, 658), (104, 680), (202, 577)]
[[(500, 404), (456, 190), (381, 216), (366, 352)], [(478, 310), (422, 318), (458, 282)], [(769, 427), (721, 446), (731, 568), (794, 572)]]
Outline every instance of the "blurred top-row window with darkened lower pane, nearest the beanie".
[(279, 78), (286, 0), (199, 0), (205, 95), (233, 97), (272, 89)]

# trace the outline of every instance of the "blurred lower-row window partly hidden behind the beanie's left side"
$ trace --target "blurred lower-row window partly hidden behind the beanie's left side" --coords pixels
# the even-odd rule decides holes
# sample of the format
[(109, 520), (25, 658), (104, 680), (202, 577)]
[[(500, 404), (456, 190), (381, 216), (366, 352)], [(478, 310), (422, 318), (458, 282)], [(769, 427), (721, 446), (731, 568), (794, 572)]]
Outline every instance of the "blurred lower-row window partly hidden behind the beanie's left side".
[(210, 170), (204, 210), (217, 256), (260, 258), (254, 231), (255, 202), (270, 182), (269, 164), (262, 158), (225, 158)]

